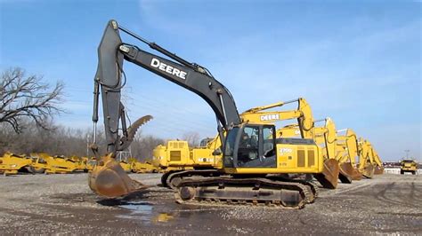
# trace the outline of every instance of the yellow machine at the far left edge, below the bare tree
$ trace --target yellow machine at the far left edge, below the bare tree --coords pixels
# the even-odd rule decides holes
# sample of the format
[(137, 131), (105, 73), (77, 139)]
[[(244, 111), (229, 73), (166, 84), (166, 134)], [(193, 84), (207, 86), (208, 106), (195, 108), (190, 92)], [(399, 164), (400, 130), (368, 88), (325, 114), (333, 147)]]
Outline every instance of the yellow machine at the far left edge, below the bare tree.
[(0, 173), (4, 176), (16, 175), (20, 170), (26, 170), (31, 163), (32, 160), (25, 155), (7, 152), (0, 157)]

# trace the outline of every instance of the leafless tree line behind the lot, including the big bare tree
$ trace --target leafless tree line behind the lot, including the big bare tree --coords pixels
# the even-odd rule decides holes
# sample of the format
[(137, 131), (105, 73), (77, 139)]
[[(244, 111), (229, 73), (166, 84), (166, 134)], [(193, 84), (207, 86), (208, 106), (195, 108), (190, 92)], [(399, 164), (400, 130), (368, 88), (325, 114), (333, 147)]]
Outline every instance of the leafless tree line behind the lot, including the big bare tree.
[[(0, 81), (0, 156), (5, 152), (17, 154), (49, 153), (52, 155), (92, 156), (88, 144), (91, 130), (56, 125), (54, 118), (63, 112), (65, 86), (57, 82), (45, 83), (42, 76), (26, 75), (20, 67), (5, 69)], [(99, 129), (101, 130), (101, 129)], [(199, 145), (199, 135), (183, 135), (191, 146)], [(99, 131), (97, 142), (104, 154), (105, 138)], [(136, 135), (130, 147), (132, 155), (140, 161), (148, 160), (152, 150), (165, 144), (164, 138)]]

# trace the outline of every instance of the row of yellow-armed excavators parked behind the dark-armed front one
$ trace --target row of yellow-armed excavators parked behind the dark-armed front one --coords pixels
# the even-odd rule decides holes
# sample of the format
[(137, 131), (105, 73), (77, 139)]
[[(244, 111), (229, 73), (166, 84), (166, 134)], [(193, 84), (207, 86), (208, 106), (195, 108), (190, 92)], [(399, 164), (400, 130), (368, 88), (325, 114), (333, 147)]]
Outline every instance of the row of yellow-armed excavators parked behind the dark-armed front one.
[[(293, 102), (298, 104), (296, 110), (267, 111)], [(311, 107), (304, 98), (254, 107), (240, 114), (240, 117), (248, 122), (268, 123), (296, 119), (295, 124), (278, 129), (277, 138), (312, 139), (321, 148), (321, 155), (312, 155), (312, 158), (306, 158), (305, 152), (298, 154), (297, 158), (287, 158), (283, 163), (287, 174), (312, 173), (300, 168), (318, 163), (319, 161), (315, 161), (318, 158), (323, 160), (325, 172), (321, 174), (316, 170), (312, 174), (322, 186), (328, 188), (336, 188), (338, 179), (342, 183), (350, 184), (353, 180), (360, 180), (362, 176), (370, 178), (374, 173), (383, 173), (382, 162), (369, 141), (358, 139), (351, 129), (336, 130), (335, 123), (330, 118), (314, 121)], [(318, 126), (319, 122), (325, 123)], [(298, 146), (284, 146), (283, 151), (291, 153), (295, 150), (297, 153), (296, 147)], [(153, 164), (166, 172), (162, 177), (162, 184), (165, 186), (171, 185), (172, 177), (177, 176), (176, 172), (219, 169), (223, 165), (220, 138), (218, 135), (215, 138), (205, 138), (199, 147), (190, 147), (188, 142), (183, 140), (169, 140), (165, 146), (157, 146), (154, 150)]]

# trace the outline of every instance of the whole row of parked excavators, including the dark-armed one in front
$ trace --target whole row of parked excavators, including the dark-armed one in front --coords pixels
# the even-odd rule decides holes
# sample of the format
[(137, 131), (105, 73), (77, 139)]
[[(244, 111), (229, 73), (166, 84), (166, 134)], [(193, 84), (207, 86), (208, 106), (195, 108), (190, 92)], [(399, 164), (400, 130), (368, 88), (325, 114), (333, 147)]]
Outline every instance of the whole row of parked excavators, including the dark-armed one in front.
[[(121, 33), (162, 55), (124, 43)], [(353, 177), (358, 179), (361, 166), (367, 168), (368, 163), (375, 161), (374, 156), (369, 162), (363, 161), (369, 155), (369, 151), (365, 151), (361, 153), (358, 168), (350, 162), (355, 156), (347, 158), (344, 157), (346, 153), (339, 154), (348, 147), (340, 148), (341, 141), (337, 145), (337, 131), (330, 126), (329, 119), (324, 126), (315, 126), (310, 106), (303, 98), (296, 100), (299, 108), (294, 111), (268, 111), (287, 104), (277, 103), (239, 114), (231, 92), (206, 67), (182, 59), (110, 20), (98, 47), (92, 145), (93, 152), (98, 153), (95, 134), (101, 94), (108, 154), (102, 157), (97, 154), (101, 161), (89, 177), (93, 192), (103, 197), (123, 197), (148, 188), (128, 177), (116, 161), (116, 153), (126, 150), (134, 140), (136, 130), (151, 119), (150, 115), (145, 115), (130, 126), (126, 125), (126, 108), (121, 101), (122, 88), (126, 84), (125, 61), (191, 90), (215, 113), (218, 134), (207, 139), (203, 146), (190, 147), (187, 142), (173, 140), (154, 150), (153, 162), (167, 171), (162, 184), (174, 189), (175, 200), (179, 203), (303, 208), (318, 194), (312, 176), (322, 186), (336, 188), (338, 179), (351, 183)], [(296, 119), (297, 123), (277, 127), (276, 122), (289, 119)], [(300, 136), (278, 136), (283, 133), (282, 129)], [(299, 177), (301, 174), (306, 177)]]

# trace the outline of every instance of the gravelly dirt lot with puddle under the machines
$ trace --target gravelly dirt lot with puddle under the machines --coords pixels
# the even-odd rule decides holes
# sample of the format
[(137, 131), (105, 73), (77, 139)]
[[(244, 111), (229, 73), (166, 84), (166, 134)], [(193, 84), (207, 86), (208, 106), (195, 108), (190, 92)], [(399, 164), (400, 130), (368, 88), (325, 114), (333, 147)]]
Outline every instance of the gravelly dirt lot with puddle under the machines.
[[(157, 185), (160, 175), (131, 177)], [(86, 174), (0, 177), (0, 234), (422, 234), (422, 176), (339, 185), (301, 210), (183, 206), (158, 186), (138, 200), (100, 200)]]

